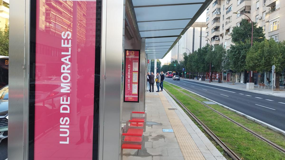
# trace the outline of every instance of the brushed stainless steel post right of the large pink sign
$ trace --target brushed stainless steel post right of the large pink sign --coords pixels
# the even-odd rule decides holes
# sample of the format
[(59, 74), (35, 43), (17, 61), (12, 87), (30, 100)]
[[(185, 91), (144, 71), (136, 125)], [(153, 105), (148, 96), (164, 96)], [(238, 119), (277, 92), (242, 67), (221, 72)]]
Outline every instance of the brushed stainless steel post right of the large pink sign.
[(104, 160), (121, 158), (121, 60), (124, 4), (123, 0), (108, 0), (103, 1), (102, 8), (102, 57), (105, 54), (105, 65), (103, 58), (101, 65), (102, 69), (105, 67), (102, 71), (102, 75), (105, 72), (105, 82), (101, 81), (101, 90), (105, 93), (104, 98), (101, 99), (101, 104), (104, 103), (102, 110), (104, 112), (104, 135), (101, 134), (100, 137), (103, 136)]

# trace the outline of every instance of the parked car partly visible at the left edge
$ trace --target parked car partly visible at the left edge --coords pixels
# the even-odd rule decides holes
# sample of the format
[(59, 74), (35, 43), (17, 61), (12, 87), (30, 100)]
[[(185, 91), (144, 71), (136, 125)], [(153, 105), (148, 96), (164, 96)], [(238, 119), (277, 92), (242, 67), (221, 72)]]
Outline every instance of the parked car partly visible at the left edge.
[(0, 89), (0, 142), (8, 137), (8, 85)]

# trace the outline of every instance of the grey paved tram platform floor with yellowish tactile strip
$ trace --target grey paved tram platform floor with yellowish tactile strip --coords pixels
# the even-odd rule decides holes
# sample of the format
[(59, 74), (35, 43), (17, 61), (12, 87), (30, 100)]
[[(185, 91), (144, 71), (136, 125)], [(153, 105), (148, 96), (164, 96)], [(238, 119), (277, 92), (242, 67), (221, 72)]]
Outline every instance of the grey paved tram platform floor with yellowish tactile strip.
[(225, 160), (166, 92), (146, 93), (145, 112), (145, 148), (124, 149), (123, 160)]

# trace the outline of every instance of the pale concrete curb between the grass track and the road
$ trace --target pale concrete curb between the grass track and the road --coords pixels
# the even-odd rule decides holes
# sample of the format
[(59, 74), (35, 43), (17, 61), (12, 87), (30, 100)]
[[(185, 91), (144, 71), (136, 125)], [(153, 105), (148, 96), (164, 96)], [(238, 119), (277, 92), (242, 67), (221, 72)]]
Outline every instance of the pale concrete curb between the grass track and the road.
[[(171, 84), (172, 84), (172, 83), (171, 83)], [(175, 84), (172, 84), (172, 85), (175, 85)], [(180, 86), (178, 86), (178, 85), (176, 85), (176, 86), (177, 86), (177, 87), (180, 87)], [(182, 88), (182, 87), (180, 87), (180, 88)], [(183, 88), (183, 89), (185, 89), (185, 88)], [(188, 89), (185, 89), (185, 90), (188, 91), (188, 92), (190, 92), (190, 93), (193, 93), (193, 94), (195, 94), (195, 95), (198, 95), (198, 96), (200, 96), (200, 97), (202, 97), (202, 98), (204, 98), (204, 99), (207, 99), (207, 100), (210, 100), (210, 101), (212, 101), (212, 102), (214, 102), (214, 103), (217, 103), (219, 106), (222, 106), (222, 107), (224, 107), (224, 108), (227, 108), (228, 110), (231, 110), (231, 111), (233, 111), (233, 112), (235, 112), (235, 113), (237, 113), (237, 114), (239, 114), (239, 115), (241, 115), (241, 116), (243, 116), (243, 117), (245, 117), (245, 118), (247, 118), (247, 119), (249, 119), (249, 120), (252, 120), (253, 122), (258, 123), (258, 124), (260, 124), (260, 125), (263, 126), (263, 127), (267, 127), (267, 128), (269, 128), (269, 129), (271, 129), (271, 130), (273, 130), (273, 131), (275, 131), (275, 132), (278, 132), (278, 133), (280, 133), (280, 134), (282, 134), (282, 135), (285, 136), (285, 131), (284, 131), (284, 130), (281, 130), (281, 129), (279, 129), (279, 128), (276, 128), (276, 127), (274, 127), (274, 126), (272, 126), (272, 125), (270, 125), (270, 124), (268, 124), (268, 123), (265, 123), (265, 122), (263, 122), (263, 121), (261, 121), (261, 120), (258, 120), (258, 119), (256, 119), (256, 118), (253, 118), (253, 117), (251, 117), (251, 116), (249, 116), (249, 115), (247, 115), (247, 114), (244, 114), (244, 113), (242, 113), (242, 112), (239, 112), (239, 111), (237, 111), (237, 110), (234, 110), (234, 109), (232, 109), (232, 108), (230, 108), (230, 107), (228, 107), (228, 106), (225, 106), (225, 105), (223, 105), (223, 104), (221, 104), (221, 103), (218, 103), (218, 102), (216, 102), (216, 101), (214, 101), (214, 100), (211, 100), (211, 99), (208, 99), (208, 98), (206, 98), (206, 97), (204, 97), (204, 96), (201, 96), (201, 95), (199, 95), (198, 93), (189, 91)]]

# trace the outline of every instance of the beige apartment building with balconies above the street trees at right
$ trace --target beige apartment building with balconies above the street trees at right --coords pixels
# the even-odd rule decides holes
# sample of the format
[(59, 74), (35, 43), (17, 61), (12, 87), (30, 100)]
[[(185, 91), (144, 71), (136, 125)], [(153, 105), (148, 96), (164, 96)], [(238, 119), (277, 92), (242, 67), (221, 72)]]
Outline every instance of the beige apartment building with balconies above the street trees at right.
[[(282, 21), (285, 18), (284, 0), (213, 0), (206, 15), (206, 36), (212, 45), (221, 44), (227, 50), (230, 48), (232, 42), (229, 34), (233, 27), (239, 26), (242, 19), (249, 19), (235, 12), (244, 13), (256, 22), (257, 26), (262, 27), (267, 39), (285, 40), (285, 20)], [(236, 73), (235, 76), (235, 82), (247, 82), (247, 72)], [(233, 76), (230, 77), (232, 81)], [(254, 82), (264, 83), (267, 77), (272, 79), (272, 74), (254, 73)], [(280, 85), (284, 85), (284, 77), (285, 73), (280, 77)]]

